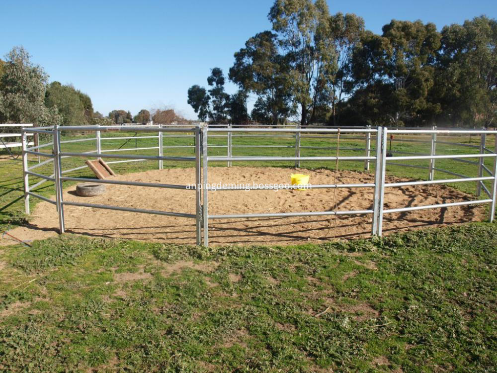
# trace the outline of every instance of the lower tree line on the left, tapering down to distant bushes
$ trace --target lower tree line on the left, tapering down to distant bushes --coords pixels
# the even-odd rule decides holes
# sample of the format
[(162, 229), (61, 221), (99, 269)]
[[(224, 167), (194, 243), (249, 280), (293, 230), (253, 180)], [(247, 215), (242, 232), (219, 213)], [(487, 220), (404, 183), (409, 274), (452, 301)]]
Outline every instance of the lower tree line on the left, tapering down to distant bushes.
[(91, 98), (73, 85), (48, 83), (44, 69), (31, 62), (23, 47), (14, 47), (0, 60), (0, 123), (33, 123), (38, 126), (172, 123), (184, 121), (172, 109), (112, 110), (107, 116), (93, 110)]

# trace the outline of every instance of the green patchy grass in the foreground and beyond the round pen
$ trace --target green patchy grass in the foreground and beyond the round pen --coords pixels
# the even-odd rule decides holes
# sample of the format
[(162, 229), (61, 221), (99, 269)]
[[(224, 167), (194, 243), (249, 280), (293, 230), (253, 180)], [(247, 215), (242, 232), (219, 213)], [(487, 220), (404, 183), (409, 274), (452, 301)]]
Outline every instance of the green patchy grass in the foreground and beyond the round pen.
[[(65, 137), (76, 138), (81, 137)], [(139, 139), (137, 146), (154, 146), (153, 141)], [(165, 145), (189, 141), (171, 138)], [(302, 145), (311, 146), (310, 141)], [(102, 149), (123, 143), (105, 140)], [(235, 145), (242, 143), (254, 140), (234, 139)], [(336, 141), (313, 139), (318, 143)], [(255, 144), (285, 145), (292, 139)], [(413, 144), (394, 143), (392, 149), (427, 152)], [(125, 147), (134, 145), (132, 140)], [(343, 138), (340, 145), (363, 142)], [(70, 143), (63, 150), (94, 148), (94, 142)], [(437, 153), (469, 151), (474, 152), (440, 146)], [(187, 152), (192, 154), (184, 148), (165, 151)], [(221, 155), (225, 149), (212, 152)], [(234, 155), (293, 153), (292, 148), (234, 150)], [(302, 151), (303, 156), (335, 154)], [(82, 164), (82, 159), (64, 160), (65, 169)], [(363, 165), (339, 168), (361, 171)], [(332, 169), (334, 162), (301, 166)], [(165, 162), (165, 167), (184, 165)], [(477, 172), (456, 161), (437, 161), (437, 167), (467, 176)], [(113, 168), (128, 173), (156, 169), (157, 163)], [(390, 166), (387, 172), (427, 177), (426, 170), (414, 168)], [(86, 169), (73, 175), (91, 176)], [(26, 218), (21, 163), (1, 161), (0, 181), (0, 228), (9, 229)], [(475, 183), (455, 187), (476, 189)], [(53, 185), (35, 191), (50, 196)], [(207, 249), (72, 235), (32, 247), (0, 247), (0, 372), (495, 372), (496, 241), (495, 224), (472, 223), (288, 247)]]

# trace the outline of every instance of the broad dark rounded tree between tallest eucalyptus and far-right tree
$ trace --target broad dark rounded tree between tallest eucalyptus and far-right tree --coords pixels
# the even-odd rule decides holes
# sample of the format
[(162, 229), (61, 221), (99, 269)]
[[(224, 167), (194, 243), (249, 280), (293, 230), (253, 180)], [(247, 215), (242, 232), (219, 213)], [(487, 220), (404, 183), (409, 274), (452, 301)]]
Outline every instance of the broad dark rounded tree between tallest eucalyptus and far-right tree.
[[(429, 100), (440, 33), (433, 23), (392, 20), (382, 36), (364, 33), (354, 53), (355, 78), (361, 93), (376, 95), (391, 125), (419, 120), (440, 110)], [(369, 87), (366, 87), (369, 86)], [(376, 118), (379, 119), (379, 118)]]

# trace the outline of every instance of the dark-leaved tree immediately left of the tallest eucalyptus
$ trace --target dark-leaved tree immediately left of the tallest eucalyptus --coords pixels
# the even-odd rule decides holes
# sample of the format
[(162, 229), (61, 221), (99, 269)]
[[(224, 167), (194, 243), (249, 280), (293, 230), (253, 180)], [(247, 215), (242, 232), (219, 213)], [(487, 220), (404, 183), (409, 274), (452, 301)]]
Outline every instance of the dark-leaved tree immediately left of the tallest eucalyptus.
[(229, 78), (241, 90), (257, 96), (254, 119), (276, 125), (294, 112), (289, 72), (290, 65), (278, 50), (277, 35), (264, 31), (235, 53)]

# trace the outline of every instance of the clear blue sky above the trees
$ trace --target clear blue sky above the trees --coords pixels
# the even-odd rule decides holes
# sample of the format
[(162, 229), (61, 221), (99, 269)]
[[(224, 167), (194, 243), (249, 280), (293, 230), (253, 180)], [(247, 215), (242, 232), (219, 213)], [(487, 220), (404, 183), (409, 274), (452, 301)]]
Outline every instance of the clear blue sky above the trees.
[[(207, 86), (210, 69), (227, 74), (233, 53), (269, 29), (273, 1), (6, 1), (0, 3), (0, 56), (22, 45), (50, 81), (72, 83), (95, 110), (172, 107), (187, 118), (193, 84)], [(486, 14), (496, 0), (329, 1), (331, 13), (362, 16), (380, 33), (391, 19), (462, 23)], [(236, 87), (227, 85), (233, 93)]]

